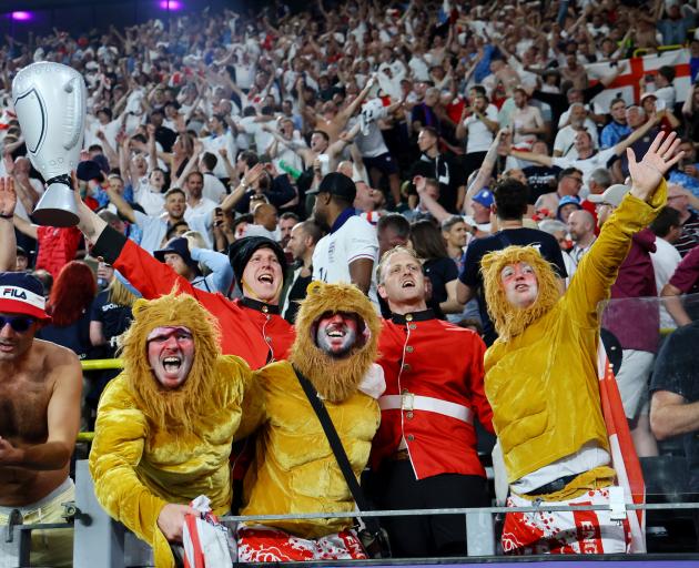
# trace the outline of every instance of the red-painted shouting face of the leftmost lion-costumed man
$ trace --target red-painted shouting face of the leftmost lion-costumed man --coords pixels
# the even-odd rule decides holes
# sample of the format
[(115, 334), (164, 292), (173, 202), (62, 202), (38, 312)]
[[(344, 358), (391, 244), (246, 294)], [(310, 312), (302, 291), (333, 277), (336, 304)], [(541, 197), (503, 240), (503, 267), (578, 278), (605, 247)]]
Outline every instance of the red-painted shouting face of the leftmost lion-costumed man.
[(194, 338), (188, 327), (156, 327), (148, 335), (148, 361), (164, 388), (180, 387), (194, 363)]

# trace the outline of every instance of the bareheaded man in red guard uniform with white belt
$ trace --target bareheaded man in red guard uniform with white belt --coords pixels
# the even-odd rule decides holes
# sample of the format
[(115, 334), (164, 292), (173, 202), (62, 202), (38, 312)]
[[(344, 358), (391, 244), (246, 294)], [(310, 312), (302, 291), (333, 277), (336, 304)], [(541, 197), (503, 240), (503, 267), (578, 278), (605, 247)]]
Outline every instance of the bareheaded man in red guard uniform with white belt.
[[(381, 509), (487, 507), (474, 429), (477, 416), (493, 432), (483, 387), (485, 344), (427, 310), (422, 263), (412, 250), (386, 252), (378, 281), (393, 316), (378, 341), (386, 392), (378, 400), (369, 493)], [(463, 515), (383, 520), (397, 557), (466, 552)]]

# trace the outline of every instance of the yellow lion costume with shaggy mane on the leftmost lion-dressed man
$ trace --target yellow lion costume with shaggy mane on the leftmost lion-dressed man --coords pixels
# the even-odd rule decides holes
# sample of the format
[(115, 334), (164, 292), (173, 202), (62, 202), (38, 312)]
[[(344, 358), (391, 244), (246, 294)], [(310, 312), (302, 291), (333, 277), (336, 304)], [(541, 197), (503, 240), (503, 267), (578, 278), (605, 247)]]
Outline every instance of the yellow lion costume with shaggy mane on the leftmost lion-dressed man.
[[(102, 507), (153, 547), (156, 567), (170, 568), (158, 527), (163, 506), (203, 494), (215, 514), (230, 510), (229, 455), (251, 375), (243, 359), (221, 355), (217, 324), (192, 296), (139, 300), (133, 316), (124, 371), (98, 407), (90, 473)], [(161, 387), (146, 357), (146, 337), (160, 326), (188, 327), (194, 339), (192, 368), (174, 390)]]

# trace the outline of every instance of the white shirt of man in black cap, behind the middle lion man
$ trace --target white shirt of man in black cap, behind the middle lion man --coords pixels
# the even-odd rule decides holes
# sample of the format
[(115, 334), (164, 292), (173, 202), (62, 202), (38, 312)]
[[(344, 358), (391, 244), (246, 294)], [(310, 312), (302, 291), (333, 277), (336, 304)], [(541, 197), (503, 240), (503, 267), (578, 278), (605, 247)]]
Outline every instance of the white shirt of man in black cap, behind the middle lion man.
[[(328, 283), (351, 283), (350, 264), (359, 258), (368, 258), (378, 264), (378, 241), (376, 229), (358, 215), (351, 216), (334, 233), (325, 235), (313, 252), (313, 280)], [(376, 271), (372, 271), (368, 297), (377, 312)]]

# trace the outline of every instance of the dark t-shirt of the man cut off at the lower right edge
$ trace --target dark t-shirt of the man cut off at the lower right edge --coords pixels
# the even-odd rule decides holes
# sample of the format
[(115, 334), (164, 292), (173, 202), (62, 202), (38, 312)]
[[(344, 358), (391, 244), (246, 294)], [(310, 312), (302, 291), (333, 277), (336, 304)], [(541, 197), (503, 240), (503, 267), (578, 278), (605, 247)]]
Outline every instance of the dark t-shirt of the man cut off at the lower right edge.
[[(697, 345), (699, 345), (699, 321), (679, 327), (662, 344), (650, 379), (650, 392), (668, 390), (682, 396), (688, 403), (699, 400), (697, 381)], [(689, 465), (686, 490), (699, 493), (699, 432), (682, 436), (685, 456)]]

